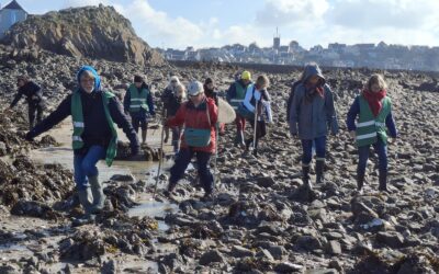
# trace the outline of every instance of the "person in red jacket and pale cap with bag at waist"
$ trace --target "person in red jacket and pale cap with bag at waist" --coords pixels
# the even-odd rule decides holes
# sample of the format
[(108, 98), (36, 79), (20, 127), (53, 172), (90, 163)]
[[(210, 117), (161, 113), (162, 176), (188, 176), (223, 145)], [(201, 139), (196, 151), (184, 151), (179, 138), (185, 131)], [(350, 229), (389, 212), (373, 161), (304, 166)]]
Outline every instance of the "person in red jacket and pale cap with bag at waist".
[(170, 170), (167, 196), (171, 195), (178, 181), (184, 174), (193, 156), (196, 157), (200, 181), (204, 189), (204, 201), (211, 199), (213, 194), (213, 175), (209, 168), (211, 156), (215, 153), (215, 124), (218, 118), (218, 109), (215, 101), (207, 98), (203, 84), (192, 81), (188, 87), (189, 101), (177, 111), (176, 116), (169, 117), (167, 126), (182, 126), (180, 151), (176, 163)]

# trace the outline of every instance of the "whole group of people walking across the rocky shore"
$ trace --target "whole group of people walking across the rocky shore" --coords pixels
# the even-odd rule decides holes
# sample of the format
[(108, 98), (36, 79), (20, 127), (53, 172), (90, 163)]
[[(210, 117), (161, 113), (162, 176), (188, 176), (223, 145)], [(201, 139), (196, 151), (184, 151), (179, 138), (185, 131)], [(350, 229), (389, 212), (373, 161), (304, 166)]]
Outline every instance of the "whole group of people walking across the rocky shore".
[[(258, 157), (261, 138), (267, 135), (267, 123), (272, 122), (271, 101), (268, 92), (270, 81), (261, 75), (251, 81), (251, 73), (243, 71), (227, 90), (226, 100), (236, 112), (236, 136), (234, 145), (244, 153)], [(30, 132), (25, 138), (32, 140), (50, 129), (67, 116), (72, 116), (72, 148), (75, 182), (79, 201), (86, 212), (83, 220), (90, 220), (102, 210), (105, 195), (95, 167), (100, 159), (111, 165), (116, 153), (117, 133), (121, 127), (131, 142), (132, 155), (139, 152), (137, 137), (142, 129), (142, 142), (147, 139), (150, 118), (156, 115), (153, 93), (142, 76), (135, 76), (126, 90), (123, 104), (110, 91), (102, 88), (94, 68), (85, 66), (77, 73), (78, 88), (42, 119), (44, 100), (41, 88), (25, 77), (18, 79), (19, 93), (10, 107), (26, 95), (29, 102)], [(188, 96), (188, 100), (187, 100)], [(170, 77), (169, 84), (161, 93), (165, 142), (169, 141), (176, 152), (175, 164), (166, 195), (172, 195), (178, 181), (184, 174), (193, 157), (196, 158), (198, 174), (204, 189), (202, 199), (211, 199), (214, 192), (210, 170), (212, 155), (217, 152), (217, 130), (224, 133), (218, 123), (218, 93), (211, 78), (204, 83), (191, 81), (185, 87), (178, 77)], [(386, 128), (396, 137), (392, 115), (392, 103), (386, 95), (386, 83), (382, 76), (373, 75), (364, 89), (353, 101), (347, 115), (349, 134), (354, 138), (359, 162), (357, 185), (361, 191), (364, 183), (369, 148), (373, 146), (379, 155), (380, 191), (387, 191)], [(34, 126), (35, 112), (37, 125)], [(301, 78), (294, 82), (288, 101), (288, 122), (293, 138), (302, 144), (302, 176), (304, 185), (312, 189), (309, 169), (315, 150), (316, 184), (325, 181), (325, 158), (327, 135), (339, 132), (333, 92), (316, 64), (305, 66)], [(356, 123), (356, 119), (358, 122)], [(246, 130), (246, 125), (250, 125)]]

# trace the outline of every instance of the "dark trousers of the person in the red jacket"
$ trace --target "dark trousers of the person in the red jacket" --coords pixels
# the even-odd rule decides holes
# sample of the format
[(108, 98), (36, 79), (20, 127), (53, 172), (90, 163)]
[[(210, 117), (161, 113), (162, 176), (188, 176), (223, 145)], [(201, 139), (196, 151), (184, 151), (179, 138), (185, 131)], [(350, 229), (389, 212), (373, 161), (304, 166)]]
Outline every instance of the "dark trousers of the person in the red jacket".
[(209, 161), (211, 160), (211, 153), (205, 151), (194, 151), (190, 148), (183, 148), (177, 155), (176, 163), (170, 170), (169, 185), (176, 185), (178, 181), (183, 176), (188, 164), (191, 162), (192, 157), (196, 157), (196, 165), (199, 168), (199, 175), (201, 184), (206, 193), (213, 191), (213, 175), (209, 168)]

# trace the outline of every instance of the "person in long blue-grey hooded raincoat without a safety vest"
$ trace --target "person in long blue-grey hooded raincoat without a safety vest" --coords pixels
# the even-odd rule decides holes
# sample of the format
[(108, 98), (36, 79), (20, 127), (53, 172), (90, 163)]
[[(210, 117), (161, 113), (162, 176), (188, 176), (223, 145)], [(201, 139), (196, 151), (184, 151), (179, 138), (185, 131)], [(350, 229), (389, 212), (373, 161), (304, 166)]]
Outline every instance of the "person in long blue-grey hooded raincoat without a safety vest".
[(290, 107), (290, 133), (302, 142), (302, 180), (312, 189), (309, 164), (313, 142), (316, 152), (316, 183), (324, 182), (326, 136), (338, 133), (337, 113), (333, 92), (317, 64), (305, 66), (302, 81), (295, 87)]

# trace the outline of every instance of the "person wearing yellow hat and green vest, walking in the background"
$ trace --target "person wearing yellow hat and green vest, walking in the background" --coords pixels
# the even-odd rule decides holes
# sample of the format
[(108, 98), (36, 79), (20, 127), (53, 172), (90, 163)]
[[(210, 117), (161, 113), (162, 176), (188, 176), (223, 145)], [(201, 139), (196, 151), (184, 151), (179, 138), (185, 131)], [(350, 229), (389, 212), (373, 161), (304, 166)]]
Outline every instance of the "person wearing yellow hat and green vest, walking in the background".
[(243, 103), (248, 85), (251, 84), (251, 73), (247, 70), (243, 71), (240, 79), (230, 84), (227, 90), (227, 102), (235, 109), (236, 112), (236, 138), (235, 146), (245, 147), (244, 132), (246, 129), (246, 118), (238, 114), (239, 104)]

